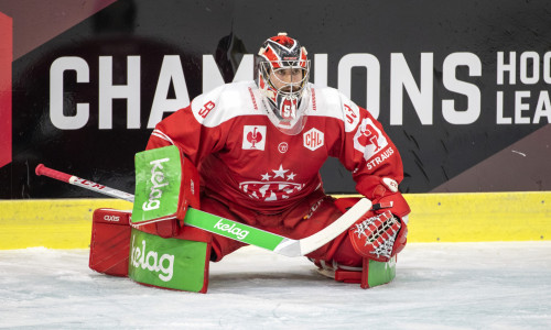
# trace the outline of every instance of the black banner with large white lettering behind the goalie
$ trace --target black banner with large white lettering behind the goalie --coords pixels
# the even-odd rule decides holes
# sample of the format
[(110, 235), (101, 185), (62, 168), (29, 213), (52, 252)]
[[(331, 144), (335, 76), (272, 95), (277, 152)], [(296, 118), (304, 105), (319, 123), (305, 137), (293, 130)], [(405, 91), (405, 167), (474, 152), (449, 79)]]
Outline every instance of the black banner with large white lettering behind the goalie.
[[(30, 10), (18, 6), (0, 12)], [(252, 79), (253, 54), (281, 31), (306, 46), (312, 82), (385, 125), (403, 193), (549, 190), (550, 12), (514, 0), (116, 1), (14, 58), (0, 198), (95, 197), (36, 177), (39, 163), (132, 193), (154, 124)], [(335, 160), (322, 176), (328, 193), (355, 191)]]

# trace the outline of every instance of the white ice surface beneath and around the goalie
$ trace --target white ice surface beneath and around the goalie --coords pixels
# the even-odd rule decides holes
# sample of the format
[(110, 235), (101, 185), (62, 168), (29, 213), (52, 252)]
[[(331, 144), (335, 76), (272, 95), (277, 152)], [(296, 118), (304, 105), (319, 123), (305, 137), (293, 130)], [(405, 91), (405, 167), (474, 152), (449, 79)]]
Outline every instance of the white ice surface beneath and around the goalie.
[(409, 244), (397, 277), (360, 289), (245, 248), (208, 294), (88, 268), (87, 250), (0, 251), (0, 327), (39, 329), (551, 329), (551, 242)]

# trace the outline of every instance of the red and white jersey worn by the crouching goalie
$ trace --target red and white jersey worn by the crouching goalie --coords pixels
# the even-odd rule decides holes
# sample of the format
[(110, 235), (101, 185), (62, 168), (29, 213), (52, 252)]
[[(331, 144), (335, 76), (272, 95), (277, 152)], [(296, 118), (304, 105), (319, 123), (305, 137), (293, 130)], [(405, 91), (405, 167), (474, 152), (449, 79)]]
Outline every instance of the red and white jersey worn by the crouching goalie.
[(381, 124), (336, 89), (310, 88), (307, 119), (296, 135), (278, 130), (255, 81), (242, 81), (201, 95), (161, 121), (148, 148), (176, 145), (207, 190), (261, 212), (323, 189), (318, 172), (329, 156), (353, 173), (356, 190), (368, 198), (382, 177), (400, 183), (402, 162)]

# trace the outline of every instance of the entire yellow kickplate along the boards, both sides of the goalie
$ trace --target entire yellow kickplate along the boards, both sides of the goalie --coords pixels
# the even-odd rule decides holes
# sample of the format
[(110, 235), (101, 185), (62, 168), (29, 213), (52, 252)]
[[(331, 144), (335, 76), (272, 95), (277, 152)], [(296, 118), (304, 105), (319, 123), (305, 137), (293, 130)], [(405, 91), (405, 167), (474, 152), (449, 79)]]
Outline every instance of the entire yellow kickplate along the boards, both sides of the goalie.
[[(551, 191), (404, 197), (412, 210), (410, 243), (551, 240)], [(88, 248), (98, 208), (131, 210), (132, 205), (117, 199), (0, 200), (0, 250)]]

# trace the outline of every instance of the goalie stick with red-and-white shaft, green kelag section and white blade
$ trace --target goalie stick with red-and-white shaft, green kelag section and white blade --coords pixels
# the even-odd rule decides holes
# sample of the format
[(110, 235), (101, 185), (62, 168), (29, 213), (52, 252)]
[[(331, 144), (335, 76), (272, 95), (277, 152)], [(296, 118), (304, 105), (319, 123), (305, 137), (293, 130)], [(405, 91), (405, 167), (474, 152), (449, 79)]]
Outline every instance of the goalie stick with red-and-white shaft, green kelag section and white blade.
[[(134, 196), (131, 194), (48, 168), (43, 164), (39, 164), (39, 166), (36, 166), (35, 173), (39, 176), (44, 175), (110, 197), (128, 200), (130, 202), (134, 201)], [(249, 245), (262, 248), (278, 254), (287, 256), (302, 256), (320, 249), (331, 240), (338, 237), (341, 233), (349, 229), (370, 209), (371, 201), (367, 198), (361, 198), (354, 207), (352, 207), (333, 223), (315, 234), (300, 240), (289, 239), (192, 208), (187, 210), (184, 223)], [(136, 224), (132, 226), (139, 227)]]

